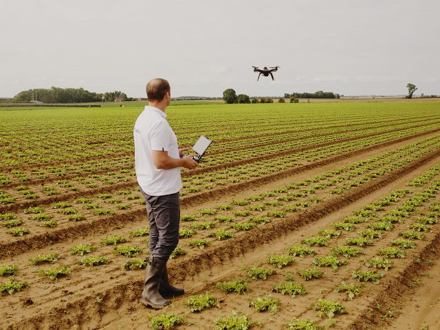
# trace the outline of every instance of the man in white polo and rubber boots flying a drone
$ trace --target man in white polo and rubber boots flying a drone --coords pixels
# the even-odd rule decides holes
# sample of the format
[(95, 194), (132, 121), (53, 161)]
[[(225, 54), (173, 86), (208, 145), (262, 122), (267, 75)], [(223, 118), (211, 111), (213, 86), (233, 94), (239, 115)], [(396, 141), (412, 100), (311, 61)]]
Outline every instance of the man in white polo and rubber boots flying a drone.
[(148, 106), (137, 118), (133, 130), (137, 182), (146, 200), (150, 227), (150, 260), (141, 301), (154, 309), (170, 304), (164, 297), (184, 294), (184, 289), (170, 285), (166, 263), (179, 242), (180, 168), (198, 166), (192, 155), (184, 155), (188, 148), (178, 148), (177, 137), (166, 121), (170, 91), (165, 79), (148, 82)]

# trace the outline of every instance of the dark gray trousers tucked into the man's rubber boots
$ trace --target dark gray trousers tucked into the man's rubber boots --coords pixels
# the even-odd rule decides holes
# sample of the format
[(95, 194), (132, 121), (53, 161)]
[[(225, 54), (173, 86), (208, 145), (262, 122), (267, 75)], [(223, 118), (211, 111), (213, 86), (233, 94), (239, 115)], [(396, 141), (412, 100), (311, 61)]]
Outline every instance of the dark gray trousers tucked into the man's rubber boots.
[(150, 226), (148, 250), (153, 258), (168, 260), (179, 243), (180, 198), (179, 192), (163, 196), (147, 195), (146, 212)]

